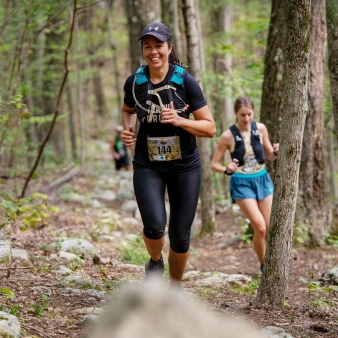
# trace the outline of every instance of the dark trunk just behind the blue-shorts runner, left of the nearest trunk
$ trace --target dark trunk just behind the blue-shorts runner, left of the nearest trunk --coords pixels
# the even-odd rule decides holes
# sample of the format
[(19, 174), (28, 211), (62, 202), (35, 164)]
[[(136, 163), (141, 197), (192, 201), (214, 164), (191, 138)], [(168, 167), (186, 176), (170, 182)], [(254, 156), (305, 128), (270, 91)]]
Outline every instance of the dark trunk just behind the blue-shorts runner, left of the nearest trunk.
[[(286, 35), (286, 1), (273, 0), (270, 28), (265, 54), (264, 81), (260, 120), (268, 129), (270, 140), (279, 142), (282, 123), (282, 94), (284, 78), (284, 54)], [(266, 168), (274, 179), (276, 161), (266, 162)]]

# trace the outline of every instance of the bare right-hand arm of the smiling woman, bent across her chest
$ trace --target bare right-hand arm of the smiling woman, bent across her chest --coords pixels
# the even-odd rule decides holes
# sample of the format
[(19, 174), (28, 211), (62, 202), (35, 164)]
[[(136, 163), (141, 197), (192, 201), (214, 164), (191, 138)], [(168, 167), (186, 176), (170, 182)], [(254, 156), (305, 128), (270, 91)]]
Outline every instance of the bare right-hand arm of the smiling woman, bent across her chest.
[(180, 117), (170, 102), (169, 108), (161, 111), (162, 123), (171, 123), (176, 127), (183, 128), (197, 137), (214, 137), (216, 126), (208, 106), (204, 106), (193, 112), (195, 120)]

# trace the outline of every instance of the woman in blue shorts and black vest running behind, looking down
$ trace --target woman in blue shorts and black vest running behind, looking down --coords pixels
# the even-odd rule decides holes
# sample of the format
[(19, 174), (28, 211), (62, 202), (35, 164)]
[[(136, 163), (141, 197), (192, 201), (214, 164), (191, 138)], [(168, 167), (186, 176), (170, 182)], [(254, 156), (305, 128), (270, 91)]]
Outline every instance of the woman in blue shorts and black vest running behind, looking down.
[[(265, 157), (270, 161), (277, 159), (279, 144), (272, 146), (265, 125), (253, 121), (254, 104), (249, 98), (238, 98), (234, 110), (237, 122), (221, 135), (211, 169), (231, 175), (232, 202), (237, 203), (250, 220), (254, 230), (253, 247), (263, 271), (274, 191), (264, 163)], [(221, 161), (227, 150), (232, 162), (225, 167)]]

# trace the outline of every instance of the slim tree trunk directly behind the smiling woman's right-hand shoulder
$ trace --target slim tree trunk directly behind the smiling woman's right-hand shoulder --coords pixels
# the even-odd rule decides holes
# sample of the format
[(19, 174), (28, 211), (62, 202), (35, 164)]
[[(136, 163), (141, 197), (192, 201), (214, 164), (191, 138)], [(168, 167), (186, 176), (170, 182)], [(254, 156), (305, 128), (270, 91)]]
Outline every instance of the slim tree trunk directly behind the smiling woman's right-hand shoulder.
[[(198, 84), (202, 86), (201, 78), (201, 58), (198, 34), (198, 25), (195, 11), (194, 0), (183, 0), (183, 16), (187, 34), (189, 71), (195, 77)], [(212, 233), (216, 229), (215, 207), (212, 199), (211, 173), (210, 173), (210, 154), (208, 139), (200, 137), (197, 139), (198, 149), (201, 157), (202, 166), (202, 186), (201, 186), (201, 213), (202, 229), (200, 236), (203, 237)]]

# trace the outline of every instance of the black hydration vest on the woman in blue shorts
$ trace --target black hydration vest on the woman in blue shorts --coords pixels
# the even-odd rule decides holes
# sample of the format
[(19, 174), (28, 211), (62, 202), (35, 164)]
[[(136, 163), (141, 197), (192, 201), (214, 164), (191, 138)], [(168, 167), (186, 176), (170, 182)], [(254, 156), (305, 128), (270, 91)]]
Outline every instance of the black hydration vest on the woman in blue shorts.
[[(239, 166), (242, 166), (244, 165), (244, 155), (245, 155), (244, 140), (236, 125), (232, 125), (230, 127), (230, 130), (235, 139), (235, 149), (231, 153), (231, 158), (232, 159), (236, 158), (239, 162), (238, 163)], [(263, 164), (265, 162), (264, 149), (261, 143), (261, 139), (259, 137), (257, 124), (254, 121), (251, 122), (251, 146), (254, 151), (257, 162), (259, 164)]]

